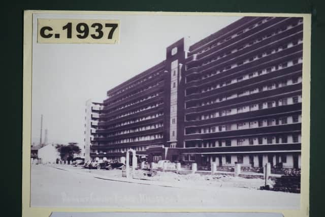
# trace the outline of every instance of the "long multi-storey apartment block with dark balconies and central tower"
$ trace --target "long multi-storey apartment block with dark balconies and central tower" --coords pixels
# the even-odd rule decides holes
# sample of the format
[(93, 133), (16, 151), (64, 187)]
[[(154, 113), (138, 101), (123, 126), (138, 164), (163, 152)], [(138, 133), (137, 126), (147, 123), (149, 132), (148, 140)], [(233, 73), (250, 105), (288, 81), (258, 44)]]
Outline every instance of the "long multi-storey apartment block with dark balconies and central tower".
[(90, 158), (301, 166), (302, 18), (244, 17), (110, 89)]

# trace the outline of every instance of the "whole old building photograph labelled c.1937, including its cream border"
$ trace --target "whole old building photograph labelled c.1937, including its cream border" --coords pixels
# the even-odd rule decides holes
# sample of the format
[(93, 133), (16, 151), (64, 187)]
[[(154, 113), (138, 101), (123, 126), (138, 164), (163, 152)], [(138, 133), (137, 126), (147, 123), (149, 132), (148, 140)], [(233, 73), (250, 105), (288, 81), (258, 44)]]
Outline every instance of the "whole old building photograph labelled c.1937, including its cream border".
[(308, 215), (310, 22), (25, 11), (23, 214)]

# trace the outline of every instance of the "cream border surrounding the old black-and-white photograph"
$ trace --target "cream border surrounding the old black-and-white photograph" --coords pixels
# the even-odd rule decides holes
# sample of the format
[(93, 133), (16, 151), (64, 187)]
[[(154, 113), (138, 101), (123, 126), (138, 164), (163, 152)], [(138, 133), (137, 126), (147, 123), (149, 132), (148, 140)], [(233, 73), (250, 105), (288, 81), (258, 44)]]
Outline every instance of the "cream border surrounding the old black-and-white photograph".
[[(299, 210), (284, 209), (126, 209), (126, 208), (35, 208), (30, 207), (30, 141), (31, 141), (31, 71), (32, 71), (32, 14), (151, 14), (151, 15), (194, 15), (194, 16), (278, 16), (303, 17), (303, 84), (302, 84), (302, 169), (301, 207)], [(38, 11), (24, 12), (23, 39), (23, 129), (22, 129), (22, 215), (49, 216), (59, 212), (281, 212), (284, 216), (309, 215), (309, 156), (310, 156), (310, 54), (311, 54), (311, 15), (280, 13), (215, 13), (215, 12), (126, 12), (126, 11)]]

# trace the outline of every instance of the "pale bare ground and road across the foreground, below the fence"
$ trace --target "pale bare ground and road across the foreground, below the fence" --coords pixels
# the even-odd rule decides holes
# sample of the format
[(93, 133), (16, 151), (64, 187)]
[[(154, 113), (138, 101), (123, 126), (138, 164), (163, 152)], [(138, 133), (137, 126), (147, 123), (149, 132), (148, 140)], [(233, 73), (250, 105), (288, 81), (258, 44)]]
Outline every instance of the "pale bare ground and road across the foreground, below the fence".
[(126, 183), (85, 174), (120, 177), (120, 170), (64, 167), (69, 171), (44, 165), (31, 166), (32, 207), (299, 209), (300, 204), (300, 194), (294, 193), (224, 186), (217, 188), (213, 185), (198, 190)]

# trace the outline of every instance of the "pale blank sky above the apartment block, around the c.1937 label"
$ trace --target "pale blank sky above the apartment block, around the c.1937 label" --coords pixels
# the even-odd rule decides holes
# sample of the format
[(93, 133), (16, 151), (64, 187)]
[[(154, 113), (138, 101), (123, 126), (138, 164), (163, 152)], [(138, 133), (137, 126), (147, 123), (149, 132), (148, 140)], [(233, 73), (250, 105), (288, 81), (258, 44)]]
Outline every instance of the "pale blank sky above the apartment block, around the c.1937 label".
[(193, 44), (241, 17), (164, 15), (84, 15), (74, 18), (119, 19), (120, 43), (37, 44), (34, 17), (32, 47), (32, 142), (40, 141), (40, 122), (49, 143), (78, 142), (83, 146), (85, 102), (103, 101), (106, 91), (160, 63), (166, 47), (189, 37)]

